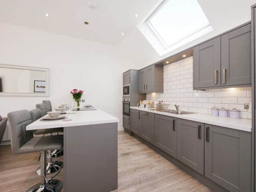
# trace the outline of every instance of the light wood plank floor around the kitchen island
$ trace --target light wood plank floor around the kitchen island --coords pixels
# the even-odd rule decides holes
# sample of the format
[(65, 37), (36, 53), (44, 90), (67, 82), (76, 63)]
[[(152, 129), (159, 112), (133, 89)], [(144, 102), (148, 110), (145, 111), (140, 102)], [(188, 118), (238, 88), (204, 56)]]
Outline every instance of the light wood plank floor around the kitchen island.
[[(0, 146), (0, 192), (26, 192), (38, 183), (40, 178), (35, 173), (38, 156), (39, 153), (14, 155), (10, 146)], [(62, 170), (57, 179), (63, 180), (63, 173)], [(118, 190), (113, 192), (211, 190), (136, 138), (118, 132)]]

